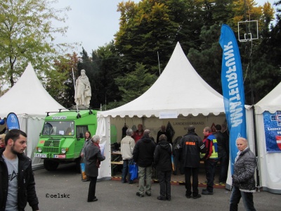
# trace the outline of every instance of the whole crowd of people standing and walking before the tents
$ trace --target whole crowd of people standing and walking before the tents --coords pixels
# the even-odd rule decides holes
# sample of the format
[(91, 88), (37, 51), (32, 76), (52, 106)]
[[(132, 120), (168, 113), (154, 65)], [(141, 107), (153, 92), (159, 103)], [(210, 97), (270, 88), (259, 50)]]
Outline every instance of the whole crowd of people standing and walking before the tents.
[[(195, 127), (190, 125), (188, 133), (179, 136), (174, 143), (169, 141), (169, 135), (164, 127), (159, 131), (157, 141), (152, 139), (149, 129), (143, 130), (143, 125), (138, 124), (138, 129), (126, 129), (126, 136), (121, 141), (121, 154), (123, 159), (122, 183), (133, 180), (129, 174), (129, 165), (138, 165), (138, 191), (136, 196), (152, 196), (152, 168), (155, 167), (159, 179), (158, 200), (171, 200), (171, 155), (181, 157), (181, 172), (185, 174), (185, 196), (186, 198), (201, 198), (202, 195), (213, 195), (214, 172), (218, 160), (221, 165), (228, 165), (228, 136), (226, 125), (216, 125), (216, 133), (212, 133), (210, 127), (204, 127), (202, 140), (195, 132)], [(88, 191), (88, 202), (95, 202), (96, 181), (100, 162), (105, 156), (100, 151), (100, 137), (86, 132), (84, 148), (81, 152), (82, 162), (85, 163), (87, 179), (90, 181)], [(0, 149), (0, 210), (24, 210), (27, 202), (32, 210), (39, 210), (38, 198), (35, 191), (34, 175), (32, 172), (32, 161), (25, 156), (27, 147), (27, 134), (19, 129), (10, 130), (4, 139), (4, 147)], [(247, 139), (242, 137), (236, 140), (238, 148), (235, 159), (233, 179), (233, 190), (230, 196), (230, 210), (237, 210), (238, 203), (242, 198), (246, 210), (255, 210), (253, 193), (256, 189), (254, 172), (256, 158), (248, 147)], [(200, 160), (204, 161), (207, 178), (207, 188), (198, 191), (198, 168)], [(225, 182), (227, 177), (227, 166), (221, 167), (219, 181)], [(176, 171), (176, 169), (174, 170)], [(12, 177), (15, 175), (15, 177)], [(192, 183), (190, 181), (192, 176)], [(19, 187), (19, 188), (18, 188)]]

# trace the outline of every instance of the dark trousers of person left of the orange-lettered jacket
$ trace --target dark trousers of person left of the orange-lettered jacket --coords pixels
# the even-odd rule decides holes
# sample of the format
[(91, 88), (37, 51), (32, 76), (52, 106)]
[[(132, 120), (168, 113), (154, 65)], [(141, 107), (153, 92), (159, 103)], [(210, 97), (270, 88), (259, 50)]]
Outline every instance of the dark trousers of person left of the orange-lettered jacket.
[(171, 198), (171, 171), (158, 172), (160, 184), (160, 196), (162, 198)]

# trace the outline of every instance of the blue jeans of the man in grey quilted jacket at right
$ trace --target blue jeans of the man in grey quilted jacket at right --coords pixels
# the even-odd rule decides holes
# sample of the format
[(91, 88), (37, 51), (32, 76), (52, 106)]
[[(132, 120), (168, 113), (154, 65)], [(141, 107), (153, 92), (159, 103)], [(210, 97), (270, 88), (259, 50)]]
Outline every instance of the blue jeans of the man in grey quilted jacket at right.
[(233, 186), (233, 192), (230, 196), (230, 211), (238, 210), (238, 204), (241, 197), (246, 210), (256, 210), (254, 207), (253, 193), (240, 191), (239, 188)]

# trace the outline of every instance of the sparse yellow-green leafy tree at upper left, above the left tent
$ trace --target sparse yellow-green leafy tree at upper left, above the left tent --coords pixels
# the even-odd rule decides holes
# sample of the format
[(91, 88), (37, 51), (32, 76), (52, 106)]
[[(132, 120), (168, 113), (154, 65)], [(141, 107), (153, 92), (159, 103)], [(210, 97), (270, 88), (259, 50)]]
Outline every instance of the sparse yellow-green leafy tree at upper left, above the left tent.
[(50, 70), (53, 56), (65, 44), (53, 44), (55, 34), (65, 34), (67, 27), (54, 27), (51, 20), (64, 22), (63, 12), (55, 10), (47, 0), (0, 1), (0, 75), (10, 82), (15, 80), (31, 62), (41, 77)]

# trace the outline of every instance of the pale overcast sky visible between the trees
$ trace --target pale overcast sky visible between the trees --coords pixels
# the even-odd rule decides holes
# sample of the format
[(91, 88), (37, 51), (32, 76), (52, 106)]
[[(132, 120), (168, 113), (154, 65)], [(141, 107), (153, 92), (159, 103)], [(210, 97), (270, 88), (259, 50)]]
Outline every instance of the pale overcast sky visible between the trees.
[[(58, 42), (80, 42), (81, 46), (74, 51), (81, 52), (81, 47), (91, 55), (92, 50), (98, 46), (104, 46), (114, 39), (114, 34), (119, 30), (120, 13), (117, 12), (117, 4), (122, 0), (58, 0), (55, 8), (70, 6), (67, 12), (68, 20), (65, 23), (69, 27), (66, 36), (58, 37)], [(126, 1), (126, 0), (124, 0)], [(138, 2), (140, 0), (135, 0)], [(273, 4), (275, 0), (268, 0)], [(266, 0), (256, 0), (263, 5)]]

